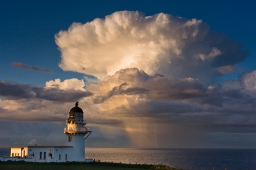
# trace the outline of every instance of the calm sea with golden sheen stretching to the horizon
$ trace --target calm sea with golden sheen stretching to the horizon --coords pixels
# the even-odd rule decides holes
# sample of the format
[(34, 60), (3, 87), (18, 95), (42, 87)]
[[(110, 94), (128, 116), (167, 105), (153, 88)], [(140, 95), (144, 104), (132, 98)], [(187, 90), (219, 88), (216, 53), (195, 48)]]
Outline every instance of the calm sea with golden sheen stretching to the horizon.
[[(159, 148), (86, 148), (86, 158), (100, 162), (155, 164), (177, 169), (224, 170), (256, 169), (256, 150), (252, 149), (159, 149)], [(0, 148), (9, 156), (10, 148)]]

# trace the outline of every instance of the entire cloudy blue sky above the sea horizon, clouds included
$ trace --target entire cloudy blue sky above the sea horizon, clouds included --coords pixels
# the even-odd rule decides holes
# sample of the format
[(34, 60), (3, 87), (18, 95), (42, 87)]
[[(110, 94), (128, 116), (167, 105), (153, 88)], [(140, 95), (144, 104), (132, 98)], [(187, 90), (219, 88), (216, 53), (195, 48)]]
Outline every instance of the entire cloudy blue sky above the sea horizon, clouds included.
[(254, 1), (4, 1), (0, 147), (256, 148)]

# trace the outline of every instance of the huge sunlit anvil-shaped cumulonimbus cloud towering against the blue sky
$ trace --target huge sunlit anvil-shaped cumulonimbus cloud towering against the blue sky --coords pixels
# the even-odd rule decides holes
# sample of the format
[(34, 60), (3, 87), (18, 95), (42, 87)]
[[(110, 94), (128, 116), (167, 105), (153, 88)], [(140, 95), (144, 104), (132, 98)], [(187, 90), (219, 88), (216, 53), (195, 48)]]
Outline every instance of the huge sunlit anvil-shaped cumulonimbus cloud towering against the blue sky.
[(191, 77), (209, 84), (223, 73), (216, 68), (249, 56), (241, 43), (211, 31), (202, 20), (165, 13), (115, 12), (86, 24), (73, 23), (55, 39), (60, 68), (99, 79), (135, 67), (150, 75)]

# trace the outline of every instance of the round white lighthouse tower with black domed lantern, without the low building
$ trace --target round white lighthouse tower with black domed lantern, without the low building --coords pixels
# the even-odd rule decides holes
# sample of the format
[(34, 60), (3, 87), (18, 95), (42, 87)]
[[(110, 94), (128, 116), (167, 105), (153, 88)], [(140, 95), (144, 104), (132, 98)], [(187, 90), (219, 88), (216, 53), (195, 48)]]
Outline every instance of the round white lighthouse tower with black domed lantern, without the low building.
[(84, 120), (84, 112), (78, 107), (78, 102), (76, 102), (75, 107), (70, 109), (66, 124), (67, 128), (64, 128), (64, 133), (67, 135), (67, 146), (73, 146), (72, 159), (76, 161), (84, 161), (84, 135), (90, 135), (92, 133), (92, 128), (85, 127), (86, 121)]

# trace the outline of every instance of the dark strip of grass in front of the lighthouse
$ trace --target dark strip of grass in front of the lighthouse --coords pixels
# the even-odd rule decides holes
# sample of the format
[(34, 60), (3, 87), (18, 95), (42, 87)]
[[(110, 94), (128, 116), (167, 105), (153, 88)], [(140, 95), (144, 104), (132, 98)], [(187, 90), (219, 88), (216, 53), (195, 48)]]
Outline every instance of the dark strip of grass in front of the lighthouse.
[[(121, 164), (110, 162), (68, 162), (68, 163), (39, 163), (39, 162), (23, 162), (23, 161), (8, 161), (0, 162), (0, 169), (19, 169), (19, 170), (101, 170), (101, 169), (171, 169), (164, 165), (146, 165), (146, 164)], [(177, 170), (172, 168), (173, 170)]]

